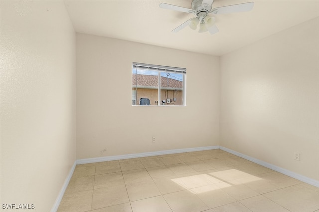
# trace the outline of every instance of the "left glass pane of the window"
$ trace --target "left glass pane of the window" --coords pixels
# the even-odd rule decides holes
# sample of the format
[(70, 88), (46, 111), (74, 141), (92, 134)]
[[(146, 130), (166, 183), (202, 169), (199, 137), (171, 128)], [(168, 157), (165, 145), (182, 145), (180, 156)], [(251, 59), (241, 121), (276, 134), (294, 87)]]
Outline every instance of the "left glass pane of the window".
[(158, 105), (159, 72), (132, 69), (132, 105)]

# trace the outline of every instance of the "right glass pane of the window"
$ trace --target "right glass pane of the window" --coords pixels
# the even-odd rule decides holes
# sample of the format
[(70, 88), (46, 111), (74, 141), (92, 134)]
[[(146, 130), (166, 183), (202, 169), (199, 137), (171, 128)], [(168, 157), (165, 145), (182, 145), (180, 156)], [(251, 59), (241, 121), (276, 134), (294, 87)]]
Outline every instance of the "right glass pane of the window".
[(183, 74), (160, 72), (160, 100), (163, 105), (183, 105)]

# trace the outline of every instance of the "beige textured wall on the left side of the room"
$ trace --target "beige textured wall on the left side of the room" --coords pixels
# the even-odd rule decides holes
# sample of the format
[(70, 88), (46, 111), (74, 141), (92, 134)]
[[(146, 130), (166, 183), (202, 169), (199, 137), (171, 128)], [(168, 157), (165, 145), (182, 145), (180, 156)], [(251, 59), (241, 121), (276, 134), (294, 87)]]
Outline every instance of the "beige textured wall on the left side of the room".
[(75, 32), (64, 2), (1, 1), (1, 211), (50, 211), (74, 161)]

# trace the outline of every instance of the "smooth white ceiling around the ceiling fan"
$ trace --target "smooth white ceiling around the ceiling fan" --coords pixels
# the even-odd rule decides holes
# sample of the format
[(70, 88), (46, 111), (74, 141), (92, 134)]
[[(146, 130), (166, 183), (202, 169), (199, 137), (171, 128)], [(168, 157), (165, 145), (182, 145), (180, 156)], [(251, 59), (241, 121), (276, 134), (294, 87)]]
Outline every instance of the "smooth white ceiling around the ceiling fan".
[(65, 5), (76, 32), (216, 56), (319, 16), (318, 0), (215, 0), (213, 8), (251, 1), (250, 12), (214, 15), (219, 32), (213, 35), (189, 27), (171, 32), (195, 16), (160, 3), (191, 8), (191, 0), (65, 0)]

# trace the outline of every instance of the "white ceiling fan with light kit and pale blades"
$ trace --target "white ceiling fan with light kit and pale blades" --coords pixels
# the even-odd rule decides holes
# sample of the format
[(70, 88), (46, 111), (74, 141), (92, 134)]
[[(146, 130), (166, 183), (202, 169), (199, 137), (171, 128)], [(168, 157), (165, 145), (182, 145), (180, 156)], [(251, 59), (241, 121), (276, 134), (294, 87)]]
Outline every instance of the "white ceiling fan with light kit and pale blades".
[(172, 30), (172, 32), (178, 32), (186, 26), (189, 26), (191, 29), (196, 30), (197, 25), (199, 24), (198, 32), (209, 31), (211, 34), (215, 34), (219, 31), (215, 24), (216, 19), (213, 16), (209, 16), (209, 13), (228, 14), (234, 12), (247, 12), (252, 10), (254, 6), (254, 2), (249, 2), (212, 8), (213, 1), (214, 0), (193, 0), (191, 2), (192, 9), (181, 6), (175, 6), (167, 3), (161, 3), (160, 8), (171, 9), (179, 12), (192, 13), (196, 15), (196, 17), (190, 18), (189, 20), (187, 20), (186, 22)]

